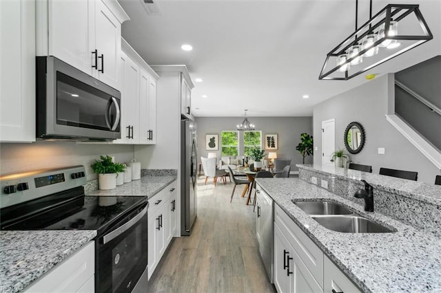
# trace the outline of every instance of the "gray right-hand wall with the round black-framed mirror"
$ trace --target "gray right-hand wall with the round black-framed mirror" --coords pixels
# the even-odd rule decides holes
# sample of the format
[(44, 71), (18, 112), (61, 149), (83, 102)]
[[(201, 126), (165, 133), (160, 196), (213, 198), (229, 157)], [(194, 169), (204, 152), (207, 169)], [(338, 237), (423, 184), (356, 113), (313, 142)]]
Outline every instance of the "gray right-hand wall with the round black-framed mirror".
[[(435, 175), (440, 175), (440, 170), (384, 116), (388, 113), (388, 95), (393, 94), (391, 84), (393, 76), (380, 76), (314, 106), (314, 146), (318, 149), (314, 151), (314, 164), (321, 165), (322, 121), (335, 119), (336, 149), (345, 148), (345, 128), (357, 121), (365, 128), (366, 144), (360, 153), (351, 155), (353, 162), (371, 165), (373, 173), (378, 173), (380, 167), (418, 171), (418, 181), (435, 182)], [(379, 147), (385, 148), (384, 155), (378, 155)]]

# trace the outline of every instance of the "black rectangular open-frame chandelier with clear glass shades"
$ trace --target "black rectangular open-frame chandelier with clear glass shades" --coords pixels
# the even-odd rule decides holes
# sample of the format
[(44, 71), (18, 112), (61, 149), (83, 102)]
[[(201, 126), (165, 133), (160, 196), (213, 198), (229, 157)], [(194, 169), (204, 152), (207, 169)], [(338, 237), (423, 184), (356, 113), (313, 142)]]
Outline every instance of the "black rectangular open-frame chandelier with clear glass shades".
[(433, 39), (419, 5), (389, 4), (327, 54), (319, 80), (348, 80)]

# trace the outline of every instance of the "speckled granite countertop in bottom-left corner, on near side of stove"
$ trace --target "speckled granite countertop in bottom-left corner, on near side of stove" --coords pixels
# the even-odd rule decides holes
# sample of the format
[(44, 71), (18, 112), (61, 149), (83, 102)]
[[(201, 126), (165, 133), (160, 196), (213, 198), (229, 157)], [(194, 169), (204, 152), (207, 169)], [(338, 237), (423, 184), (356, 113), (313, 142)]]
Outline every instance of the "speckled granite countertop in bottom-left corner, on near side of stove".
[(95, 230), (0, 231), (0, 292), (19, 292), (96, 237)]

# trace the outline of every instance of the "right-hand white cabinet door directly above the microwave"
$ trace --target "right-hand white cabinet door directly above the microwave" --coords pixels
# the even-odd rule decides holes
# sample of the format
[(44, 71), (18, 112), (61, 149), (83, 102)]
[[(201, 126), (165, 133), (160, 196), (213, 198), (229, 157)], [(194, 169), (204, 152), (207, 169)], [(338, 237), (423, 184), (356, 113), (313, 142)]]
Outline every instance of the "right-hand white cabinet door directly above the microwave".
[(102, 1), (95, 2), (95, 49), (98, 52), (98, 78), (118, 87), (121, 52), (121, 23)]

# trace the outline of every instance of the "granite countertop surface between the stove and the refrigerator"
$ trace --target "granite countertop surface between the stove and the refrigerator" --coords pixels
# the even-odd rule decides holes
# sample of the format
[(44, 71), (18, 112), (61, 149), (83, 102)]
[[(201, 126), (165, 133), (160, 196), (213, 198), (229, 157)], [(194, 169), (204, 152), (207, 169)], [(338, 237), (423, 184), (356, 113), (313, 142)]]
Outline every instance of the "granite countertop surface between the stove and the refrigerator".
[(140, 180), (132, 180), (121, 186), (116, 186), (108, 191), (86, 191), (85, 195), (114, 196), (114, 195), (130, 195), (130, 196), (146, 196), (150, 199), (156, 193), (163, 190), (165, 186), (174, 182), (176, 176), (143, 176)]

